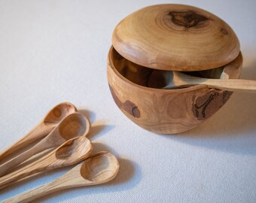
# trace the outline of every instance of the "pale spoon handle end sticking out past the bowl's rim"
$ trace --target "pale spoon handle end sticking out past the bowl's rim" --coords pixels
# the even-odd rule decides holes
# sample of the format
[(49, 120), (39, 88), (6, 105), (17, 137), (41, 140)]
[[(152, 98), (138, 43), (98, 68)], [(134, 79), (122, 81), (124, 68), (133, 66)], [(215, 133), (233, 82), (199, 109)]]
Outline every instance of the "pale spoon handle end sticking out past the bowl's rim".
[(208, 79), (202, 82), (210, 88), (224, 89), (236, 92), (251, 92), (256, 93), (256, 80), (242, 80), (242, 79), (229, 79), (229, 80), (214, 80)]

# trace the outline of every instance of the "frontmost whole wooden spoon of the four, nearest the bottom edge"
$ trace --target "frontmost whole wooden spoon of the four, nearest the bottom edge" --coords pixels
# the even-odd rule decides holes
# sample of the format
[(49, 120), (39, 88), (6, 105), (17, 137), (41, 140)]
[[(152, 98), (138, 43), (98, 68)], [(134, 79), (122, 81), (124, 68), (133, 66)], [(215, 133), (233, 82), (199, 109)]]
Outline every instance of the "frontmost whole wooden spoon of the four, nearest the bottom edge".
[(119, 163), (113, 154), (97, 153), (72, 168), (59, 179), (3, 202), (29, 202), (60, 189), (106, 183), (117, 175), (118, 169)]

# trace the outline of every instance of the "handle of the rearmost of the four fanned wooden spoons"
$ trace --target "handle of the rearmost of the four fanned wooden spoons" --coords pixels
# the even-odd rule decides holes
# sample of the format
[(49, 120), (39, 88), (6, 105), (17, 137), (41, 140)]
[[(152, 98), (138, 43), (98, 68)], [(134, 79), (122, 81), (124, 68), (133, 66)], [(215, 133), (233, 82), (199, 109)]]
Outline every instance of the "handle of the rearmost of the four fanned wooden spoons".
[(32, 129), (28, 134), (26, 134), (23, 138), (21, 138), (16, 143), (12, 144), (10, 147), (2, 151), (0, 153), (0, 162), (2, 162), (5, 157), (11, 155), (12, 153), (16, 153), (23, 147), (26, 147), (28, 144), (32, 144), (32, 142), (37, 141), (40, 138), (46, 136), (55, 126), (54, 125), (44, 125), (44, 123), (39, 123)]

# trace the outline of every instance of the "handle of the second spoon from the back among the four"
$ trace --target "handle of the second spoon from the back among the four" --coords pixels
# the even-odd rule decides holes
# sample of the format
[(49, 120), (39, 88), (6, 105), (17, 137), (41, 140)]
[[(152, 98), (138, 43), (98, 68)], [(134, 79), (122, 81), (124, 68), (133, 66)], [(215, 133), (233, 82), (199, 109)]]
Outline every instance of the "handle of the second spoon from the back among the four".
[(53, 146), (48, 146), (47, 143), (45, 143), (44, 141), (38, 142), (38, 144), (35, 144), (34, 147), (31, 147), (29, 150), (26, 150), (20, 155), (15, 156), (14, 159), (5, 162), (3, 165), (0, 165), (0, 177), (7, 174), (8, 171), (10, 171), (12, 168), (15, 168), (21, 162), (24, 162), (26, 161), (26, 159), (29, 159), (29, 157), (34, 156), (35, 154), (40, 153), (44, 150), (47, 150), (50, 147)]

